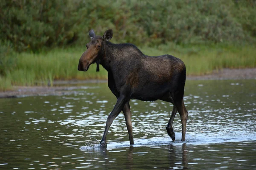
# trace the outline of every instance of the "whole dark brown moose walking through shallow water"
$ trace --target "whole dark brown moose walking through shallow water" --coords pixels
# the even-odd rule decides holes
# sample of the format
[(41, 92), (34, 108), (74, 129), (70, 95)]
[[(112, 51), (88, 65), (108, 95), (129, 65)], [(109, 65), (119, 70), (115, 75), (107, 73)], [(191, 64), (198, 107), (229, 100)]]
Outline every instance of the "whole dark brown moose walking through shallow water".
[(172, 128), (177, 111), (182, 123), (182, 138), (185, 141), (188, 112), (183, 102), (186, 81), (186, 67), (181, 59), (172, 55), (147, 56), (130, 43), (114, 44), (109, 42), (113, 37), (111, 29), (103, 36), (89, 31), (90, 42), (87, 50), (81, 55), (79, 71), (87, 71), (91, 64), (97, 63), (108, 71), (108, 87), (117, 101), (107, 118), (105, 131), (100, 141), (107, 145), (106, 136), (113, 120), (123, 111), (130, 144), (134, 144), (131, 123), (130, 99), (156, 101), (157, 99), (173, 104), (172, 115), (166, 126), (167, 133), (175, 141)]

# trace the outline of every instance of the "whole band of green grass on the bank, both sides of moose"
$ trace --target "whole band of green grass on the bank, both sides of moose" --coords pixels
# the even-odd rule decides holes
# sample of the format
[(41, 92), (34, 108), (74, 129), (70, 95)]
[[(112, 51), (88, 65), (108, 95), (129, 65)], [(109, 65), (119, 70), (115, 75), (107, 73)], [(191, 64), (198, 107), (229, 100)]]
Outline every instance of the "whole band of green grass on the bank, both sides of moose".
[[(140, 48), (144, 54), (157, 56), (171, 54), (183, 60), (188, 75), (210, 74), (222, 68), (254, 68), (256, 67), (255, 46), (186, 46), (169, 43), (157, 48)], [(96, 72), (96, 64), (87, 72), (77, 71), (77, 65), (83, 48), (54, 49), (49, 52), (13, 53), (5, 57), (15, 58), (12, 69), (0, 77), (0, 90), (8, 90), (12, 85), (47, 85), (53, 80), (63, 79), (107, 79), (107, 71), (100, 66)]]

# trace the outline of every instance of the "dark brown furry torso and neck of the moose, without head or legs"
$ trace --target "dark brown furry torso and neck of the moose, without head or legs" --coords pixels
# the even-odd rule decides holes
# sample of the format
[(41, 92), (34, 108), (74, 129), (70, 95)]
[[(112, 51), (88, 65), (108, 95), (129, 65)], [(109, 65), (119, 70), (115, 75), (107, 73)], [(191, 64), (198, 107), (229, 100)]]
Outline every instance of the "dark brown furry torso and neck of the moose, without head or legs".
[(184, 89), (186, 67), (174, 56), (146, 56), (135, 45), (105, 42), (99, 59), (109, 72), (113, 82), (109, 86), (116, 97), (122, 90), (130, 99), (155, 101), (168, 92), (175, 97), (175, 92)]

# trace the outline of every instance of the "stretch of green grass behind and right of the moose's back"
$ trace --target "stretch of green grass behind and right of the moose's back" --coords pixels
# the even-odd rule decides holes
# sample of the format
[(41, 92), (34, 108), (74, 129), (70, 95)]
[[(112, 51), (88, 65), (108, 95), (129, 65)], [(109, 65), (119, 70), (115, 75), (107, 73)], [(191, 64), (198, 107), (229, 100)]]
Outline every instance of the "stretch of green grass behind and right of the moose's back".
[(254, 46), (221, 47), (192, 46), (180, 47), (174, 44), (161, 45), (158, 49), (143, 48), (142, 51), (151, 56), (171, 54), (183, 60), (187, 75), (211, 74), (222, 68), (254, 68), (256, 67), (256, 49)]

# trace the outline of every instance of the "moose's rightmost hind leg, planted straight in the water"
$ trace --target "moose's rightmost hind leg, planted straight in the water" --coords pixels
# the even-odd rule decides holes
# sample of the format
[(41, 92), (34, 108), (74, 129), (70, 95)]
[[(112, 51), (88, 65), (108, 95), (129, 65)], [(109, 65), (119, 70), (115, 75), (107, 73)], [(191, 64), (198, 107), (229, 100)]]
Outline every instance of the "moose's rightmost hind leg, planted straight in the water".
[(180, 114), (180, 119), (181, 119), (181, 124), (182, 124), (182, 137), (181, 137), (181, 141), (185, 141), (185, 137), (186, 137), (186, 122), (189, 116), (188, 111), (185, 108), (184, 105), (184, 101), (183, 99), (181, 100), (181, 102), (177, 102), (177, 110)]

